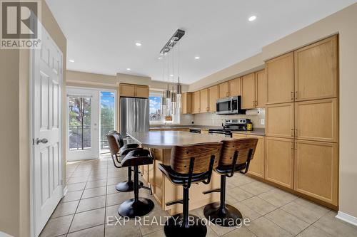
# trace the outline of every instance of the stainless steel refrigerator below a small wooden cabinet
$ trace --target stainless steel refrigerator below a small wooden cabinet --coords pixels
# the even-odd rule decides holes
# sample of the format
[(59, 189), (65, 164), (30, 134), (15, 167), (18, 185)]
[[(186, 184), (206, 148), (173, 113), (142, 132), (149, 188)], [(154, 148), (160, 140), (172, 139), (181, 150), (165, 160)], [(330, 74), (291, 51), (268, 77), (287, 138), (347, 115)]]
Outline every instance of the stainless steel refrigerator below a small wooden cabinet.
[(120, 133), (149, 131), (149, 99), (120, 98)]

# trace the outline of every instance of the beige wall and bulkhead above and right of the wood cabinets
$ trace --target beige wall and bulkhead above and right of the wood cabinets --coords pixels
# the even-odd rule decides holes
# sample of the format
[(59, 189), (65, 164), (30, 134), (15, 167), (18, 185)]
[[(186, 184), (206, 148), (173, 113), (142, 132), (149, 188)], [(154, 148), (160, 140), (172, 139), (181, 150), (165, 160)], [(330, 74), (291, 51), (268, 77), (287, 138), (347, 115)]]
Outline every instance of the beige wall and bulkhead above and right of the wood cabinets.
[(305, 46), (314, 41), (339, 33), (339, 62), (340, 62), (340, 164), (339, 164), (339, 210), (357, 217), (357, 4), (338, 11), (326, 19), (317, 21), (306, 28), (296, 31), (289, 36), (262, 48), (261, 53), (240, 63), (214, 73), (189, 86), (194, 91), (223, 80), (234, 78), (260, 68), (263, 61)]

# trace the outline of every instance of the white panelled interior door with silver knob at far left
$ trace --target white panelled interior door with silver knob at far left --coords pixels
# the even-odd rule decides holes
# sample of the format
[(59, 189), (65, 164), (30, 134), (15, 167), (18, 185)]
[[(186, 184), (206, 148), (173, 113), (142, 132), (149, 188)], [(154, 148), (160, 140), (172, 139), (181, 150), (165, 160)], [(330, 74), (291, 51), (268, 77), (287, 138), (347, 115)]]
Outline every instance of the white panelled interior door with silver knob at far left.
[(42, 47), (31, 51), (31, 191), (34, 236), (63, 196), (61, 78), (63, 56), (42, 28)]

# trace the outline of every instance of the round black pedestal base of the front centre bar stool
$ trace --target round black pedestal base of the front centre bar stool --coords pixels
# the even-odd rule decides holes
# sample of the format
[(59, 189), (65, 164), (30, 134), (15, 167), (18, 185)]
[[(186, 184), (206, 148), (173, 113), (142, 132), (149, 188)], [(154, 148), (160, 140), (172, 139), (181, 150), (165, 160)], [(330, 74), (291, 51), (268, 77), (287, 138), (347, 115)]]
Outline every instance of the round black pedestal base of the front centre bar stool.
[(168, 237), (182, 236), (206, 236), (207, 227), (205, 222), (198, 216), (188, 215), (188, 224), (183, 224), (183, 215), (178, 214), (169, 218), (164, 226), (165, 235)]

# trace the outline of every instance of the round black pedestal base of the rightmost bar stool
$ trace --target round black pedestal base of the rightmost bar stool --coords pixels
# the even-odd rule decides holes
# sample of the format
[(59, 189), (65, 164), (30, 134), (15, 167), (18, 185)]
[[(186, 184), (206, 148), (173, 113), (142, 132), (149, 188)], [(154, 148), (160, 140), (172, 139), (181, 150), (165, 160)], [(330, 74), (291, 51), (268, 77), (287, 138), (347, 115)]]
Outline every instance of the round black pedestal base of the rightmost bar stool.
[(225, 204), (221, 209), (219, 202), (205, 206), (203, 214), (208, 221), (218, 226), (238, 226), (243, 218), (241, 212), (234, 206)]

